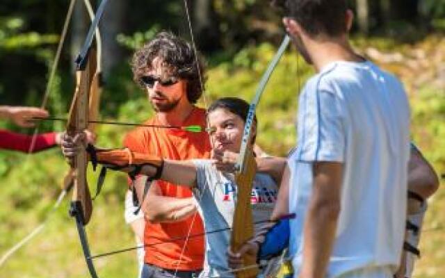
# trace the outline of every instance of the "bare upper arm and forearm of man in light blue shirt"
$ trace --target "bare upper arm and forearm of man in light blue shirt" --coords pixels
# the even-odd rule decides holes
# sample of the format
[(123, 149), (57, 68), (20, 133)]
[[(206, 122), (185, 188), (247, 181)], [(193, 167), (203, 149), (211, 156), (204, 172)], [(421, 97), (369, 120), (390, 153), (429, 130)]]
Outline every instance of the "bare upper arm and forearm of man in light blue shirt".
[(300, 278), (325, 277), (337, 231), (342, 179), (342, 163), (314, 163), (312, 197), (303, 231), (305, 259)]

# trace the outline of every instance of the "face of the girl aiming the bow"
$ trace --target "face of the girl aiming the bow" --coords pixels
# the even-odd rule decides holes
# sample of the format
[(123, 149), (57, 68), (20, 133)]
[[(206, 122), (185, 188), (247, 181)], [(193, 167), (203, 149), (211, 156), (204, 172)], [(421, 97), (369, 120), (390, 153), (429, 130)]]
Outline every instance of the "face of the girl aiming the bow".
[(209, 113), (208, 119), (212, 149), (239, 152), (244, 131), (244, 121), (241, 117), (225, 108), (216, 108)]

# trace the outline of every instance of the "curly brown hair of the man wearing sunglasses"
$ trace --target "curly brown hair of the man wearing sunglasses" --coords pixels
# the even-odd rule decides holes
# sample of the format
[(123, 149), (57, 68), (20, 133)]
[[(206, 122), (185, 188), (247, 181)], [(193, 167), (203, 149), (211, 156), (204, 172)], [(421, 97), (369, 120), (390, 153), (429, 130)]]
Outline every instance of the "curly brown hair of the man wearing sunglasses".
[(191, 104), (195, 104), (202, 95), (206, 77), (202, 58), (196, 58), (191, 44), (171, 32), (158, 33), (133, 55), (131, 70), (136, 83), (140, 83), (140, 78), (147, 67), (152, 67), (156, 57), (161, 58), (163, 65), (173, 76), (187, 81), (187, 99)]

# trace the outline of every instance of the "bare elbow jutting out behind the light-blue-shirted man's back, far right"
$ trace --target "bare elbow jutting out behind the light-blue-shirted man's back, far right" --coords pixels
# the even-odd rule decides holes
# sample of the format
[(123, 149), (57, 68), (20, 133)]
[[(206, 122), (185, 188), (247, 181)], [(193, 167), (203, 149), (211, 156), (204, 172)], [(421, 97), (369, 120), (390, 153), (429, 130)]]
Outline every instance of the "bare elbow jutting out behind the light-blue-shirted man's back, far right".
[(430, 163), (426, 161), (421, 152), (411, 149), (408, 164), (408, 190), (428, 199), (439, 188), (439, 179)]

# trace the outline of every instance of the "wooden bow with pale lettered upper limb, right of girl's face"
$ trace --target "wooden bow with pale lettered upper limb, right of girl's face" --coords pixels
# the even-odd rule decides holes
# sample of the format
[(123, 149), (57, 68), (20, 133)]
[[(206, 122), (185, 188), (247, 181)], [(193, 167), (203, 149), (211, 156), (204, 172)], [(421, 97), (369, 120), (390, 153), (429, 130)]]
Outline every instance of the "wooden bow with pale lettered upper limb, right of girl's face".
[[(254, 99), (250, 104), (249, 113), (245, 119), (243, 140), (241, 142), (240, 154), (236, 163), (236, 184), (238, 186), (238, 195), (236, 198), (236, 207), (234, 220), (232, 223), (232, 240), (231, 247), (235, 252), (248, 240), (254, 236), (253, 218), (252, 218), (252, 206), (250, 203), (250, 196), (252, 194), (252, 184), (256, 173), (256, 163), (252, 149), (252, 128), (254, 126), (254, 116), (257, 110), (257, 105), (263, 95), (264, 89), (270, 79), (270, 76), (275, 70), (277, 63), (284, 54), (287, 46), (289, 45), (290, 38), (288, 35), (284, 36), (282, 44), (277, 53), (273, 57), (273, 60), (268, 65), (268, 69), (261, 77), (257, 92)], [(256, 265), (256, 258), (250, 256), (243, 257), (243, 264), (248, 268), (236, 271), (236, 278), (254, 278), (257, 277), (259, 268)], [(250, 267), (252, 266), (252, 267)]]

